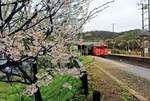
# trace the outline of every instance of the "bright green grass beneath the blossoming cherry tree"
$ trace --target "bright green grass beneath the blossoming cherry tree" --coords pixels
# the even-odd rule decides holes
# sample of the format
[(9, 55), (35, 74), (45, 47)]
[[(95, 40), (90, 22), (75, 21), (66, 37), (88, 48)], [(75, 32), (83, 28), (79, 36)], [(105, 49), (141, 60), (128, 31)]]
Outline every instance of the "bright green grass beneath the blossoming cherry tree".
[[(63, 87), (66, 82), (72, 85), (71, 90)], [(24, 87), (21, 84), (10, 86), (0, 82), (0, 101), (34, 101), (34, 97), (22, 95)], [(70, 101), (81, 93), (81, 81), (68, 75), (56, 75), (48, 86), (42, 86), (40, 90), (43, 101)]]

